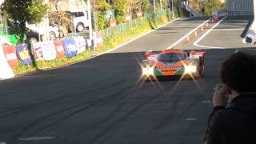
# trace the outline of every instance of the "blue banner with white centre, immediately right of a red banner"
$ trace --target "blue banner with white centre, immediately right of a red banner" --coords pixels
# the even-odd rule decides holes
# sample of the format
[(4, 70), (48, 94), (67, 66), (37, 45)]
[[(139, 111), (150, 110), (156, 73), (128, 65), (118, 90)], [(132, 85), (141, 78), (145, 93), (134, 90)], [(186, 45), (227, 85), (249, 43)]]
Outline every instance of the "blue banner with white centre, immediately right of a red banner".
[(62, 39), (62, 44), (64, 46), (65, 54), (67, 58), (72, 58), (77, 55), (77, 47), (74, 38), (64, 38)]

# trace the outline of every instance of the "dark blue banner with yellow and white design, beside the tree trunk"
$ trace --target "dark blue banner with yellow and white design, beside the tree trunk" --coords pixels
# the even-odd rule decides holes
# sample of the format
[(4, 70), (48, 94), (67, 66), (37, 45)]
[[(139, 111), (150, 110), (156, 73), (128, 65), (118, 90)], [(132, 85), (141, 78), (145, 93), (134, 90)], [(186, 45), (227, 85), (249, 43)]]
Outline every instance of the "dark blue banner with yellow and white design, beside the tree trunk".
[(30, 65), (32, 63), (32, 59), (27, 44), (21, 44), (16, 46), (16, 52), (22, 64)]

